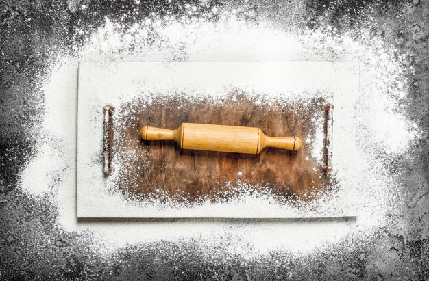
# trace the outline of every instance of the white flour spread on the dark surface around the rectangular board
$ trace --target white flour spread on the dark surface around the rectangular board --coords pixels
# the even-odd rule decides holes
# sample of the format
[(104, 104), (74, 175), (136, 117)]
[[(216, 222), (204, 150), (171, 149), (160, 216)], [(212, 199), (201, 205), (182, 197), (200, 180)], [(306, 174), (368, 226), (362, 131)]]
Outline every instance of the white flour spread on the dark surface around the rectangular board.
[[(216, 10), (217, 13), (221, 11)], [(86, 31), (82, 31), (84, 34)], [(362, 40), (361, 40), (362, 41)], [(402, 57), (378, 38), (358, 42), (352, 35), (308, 29), (286, 32), (259, 22), (223, 16), (219, 21), (197, 18), (158, 18), (127, 26), (112, 23), (88, 34), (75, 54), (60, 54), (45, 85), (44, 142), (39, 154), (23, 172), (23, 189), (35, 195), (53, 192), (60, 213), (60, 227), (93, 232), (101, 252), (130, 243), (177, 241), (199, 237), (208, 251), (216, 252), (225, 239), (234, 241), (227, 254), (267, 254), (284, 249), (293, 254), (335, 250), (341, 240), (371, 237), (397, 212), (395, 177), (384, 161), (406, 153), (419, 137), (417, 126), (398, 107), (406, 96)], [(352, 221), (323, 222), (77, 222), (75, 213), (76, 96), (79, 61), (282, 61), (339, 60), (360, 62), (361, 86), (361, 188), (360, 216)], [(68, 109), (68, 110), (64, 110)], [(374, 117), (376, 116), (376, 117)], [(356, 120), (354, 120), (356, 121)], [(53, 139), (53, 140), (52, 140)], [(55, 143), (56, 145), (51, 145)], [(341, 155), (336, 155), (341, 157)], [(49, 161), (47, 161), (49, 159)], [(95, 159), (97, 161), (97, 159)], [(45, 165), (40, 165), (40, 163)], [(58, 183), (50, 176), (58, 173)], [(39, 180), (29, 180), (36, 174)], [(352, 247), (352, 242), (350, 242)], [(222, 247), (223, 248), (223, 247)], [(223, 254), (223, 253), (222, 253)]]

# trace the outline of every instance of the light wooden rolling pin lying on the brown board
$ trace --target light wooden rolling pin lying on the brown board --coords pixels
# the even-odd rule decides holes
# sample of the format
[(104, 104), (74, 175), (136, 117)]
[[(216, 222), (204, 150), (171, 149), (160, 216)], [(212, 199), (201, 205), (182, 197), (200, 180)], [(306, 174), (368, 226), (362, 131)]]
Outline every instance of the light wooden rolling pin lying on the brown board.
[(180, 148), (258, 154), (266, 147), (299, 150), (299, 137), (268, 137), (255, 127), (183, 123), (175, 130), (144, 126), (146, 140), (173, 140)]

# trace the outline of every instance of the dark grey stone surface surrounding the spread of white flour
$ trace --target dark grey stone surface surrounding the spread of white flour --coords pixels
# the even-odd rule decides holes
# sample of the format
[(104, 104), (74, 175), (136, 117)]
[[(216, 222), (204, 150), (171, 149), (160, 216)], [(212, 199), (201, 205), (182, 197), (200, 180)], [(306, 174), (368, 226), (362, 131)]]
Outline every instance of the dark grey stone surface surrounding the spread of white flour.
[[(404, 106), (408, 118), (429, 128), (428, 1), (309, 0), (304, 2), (301, 16), (291, 14), (293, 2), (209, 2), (219, 7), (247, 5), (256, 10), (257, 17), (280, 25), (290, 26), (288, 21), (294, 21), (297, 27), (318, 29), (329, 24), (340, 32), (367, 28), (371, 35), (384, 37), (406, 55), (406, 66), (415, 67), (408, 77), (410, 94)], [(83, 4), (88, 5), (84, 11), (79, 9)], [(149, 12), (181, 14), (182, 6), (177, 1), (160, 0), (138, 5), (134, 1), (0, 0), (0, 279), (428, 280), (427, 136), (410, 149), (408, 157), (389, 163), (403, 187), (397, 198), (403, 211), (391, 221), (402, 229), (380, 228), (371, 241), (356, 238), (352, 247), (340, 241), (343, 247), (338, 252), (315, 252), (308, 258), (272, 252), (249, 262), (243, 256), (223, 256), (221, 250), (209, 255), (196, 238), (190, 238), (180, 243), (125, 247), (106, 261), (91, 250), (95, 242), (90, 234), (78, 235), (58, 227), (58, 214), (49, 195), (34, 200), (19, 191), (19, 174), (35, 153), (36, 140), (25, 129), (29, 118), (43, 111), (38, 77), (59, 50), (72, 52), (71, 46), (82, 43), (76, 29), (97, 29), (104, 16), (114, 19), (125, 15), (123, 21), (133, 23)], [(130, 16), (134, 8), (140, 11), (134, 14), (136, 19)], [(95, 10), (97, 16), (93, 15)], [(34, 126), (40, 125), (36, 122)]]

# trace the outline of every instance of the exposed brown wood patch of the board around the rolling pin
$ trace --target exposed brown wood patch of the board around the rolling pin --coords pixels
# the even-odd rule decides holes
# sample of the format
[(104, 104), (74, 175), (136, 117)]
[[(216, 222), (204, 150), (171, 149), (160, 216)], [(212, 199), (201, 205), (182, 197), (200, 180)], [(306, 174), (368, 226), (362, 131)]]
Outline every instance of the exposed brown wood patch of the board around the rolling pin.
[(115, 157), (121, 161), (118, 187), (125, 196), (141, 198), (162, 190), (171, 198), (228, 197), (238, 183), (268, 187), (280, 198), (311, 200), (330, 187), (308, 146), (290, 151), (265, 148), (258, 155), (186, 150), (173, 141), (144, 141), (142, 126), (177, 128), (184, 122), (259, 127), (267, 135), (298, 135), (312, 142), (316, 120), (323, 120), (321, 100), (283, 104), (232, 94), (223, 103), (210, 99), (151, 98), (122, 105), (115, 131)]

